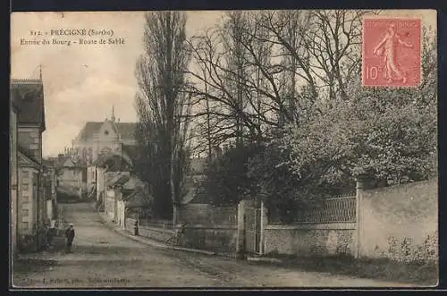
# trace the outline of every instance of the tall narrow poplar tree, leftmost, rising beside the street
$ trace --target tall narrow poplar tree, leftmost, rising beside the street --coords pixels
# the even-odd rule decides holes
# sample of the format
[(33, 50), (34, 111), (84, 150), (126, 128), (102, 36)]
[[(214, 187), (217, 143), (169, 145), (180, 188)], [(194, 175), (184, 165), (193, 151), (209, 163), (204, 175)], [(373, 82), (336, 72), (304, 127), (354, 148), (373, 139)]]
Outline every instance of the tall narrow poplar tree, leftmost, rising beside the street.
[[(153, 171), (154, 203), (164, 218), (179, 205), (189, 164), (188, 126), (190, 97), (185, 92), (185, 71), (190, 61), (186, 48), (186, 17), (181, 12), (147, 13), (144, 34), (145, 53), (137, 63), (139, 93), (139, 144), (148, 157), (144, 164)], [(151, 163), (152, 162), (152, 163)], [(151, 163), (151, 164), (148, 164)], [(157, 207), (157, 206), (156, 206)], [(171, 208), (173, 211), (168, 212)]]

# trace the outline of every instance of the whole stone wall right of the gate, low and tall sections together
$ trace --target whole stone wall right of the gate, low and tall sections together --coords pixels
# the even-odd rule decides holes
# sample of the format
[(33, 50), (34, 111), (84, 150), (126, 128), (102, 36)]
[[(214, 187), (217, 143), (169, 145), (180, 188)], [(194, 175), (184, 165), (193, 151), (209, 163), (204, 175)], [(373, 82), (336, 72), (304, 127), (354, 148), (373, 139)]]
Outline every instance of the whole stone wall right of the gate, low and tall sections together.
[(358, 190), (357, 223), (267, 224), (265, 253), (362, 258), (437, 258), (438, 181)]

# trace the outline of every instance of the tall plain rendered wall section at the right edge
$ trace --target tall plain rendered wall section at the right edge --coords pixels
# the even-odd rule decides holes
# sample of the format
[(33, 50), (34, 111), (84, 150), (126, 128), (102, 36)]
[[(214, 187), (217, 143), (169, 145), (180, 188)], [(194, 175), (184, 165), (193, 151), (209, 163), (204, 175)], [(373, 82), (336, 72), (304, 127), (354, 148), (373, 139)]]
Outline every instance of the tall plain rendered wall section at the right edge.
[(438, 181), (365, 190), (361, 215), (362, 256), (399, 258), (412, 252), (406, 249), (437, 247), (426, 240), (437, 238)]

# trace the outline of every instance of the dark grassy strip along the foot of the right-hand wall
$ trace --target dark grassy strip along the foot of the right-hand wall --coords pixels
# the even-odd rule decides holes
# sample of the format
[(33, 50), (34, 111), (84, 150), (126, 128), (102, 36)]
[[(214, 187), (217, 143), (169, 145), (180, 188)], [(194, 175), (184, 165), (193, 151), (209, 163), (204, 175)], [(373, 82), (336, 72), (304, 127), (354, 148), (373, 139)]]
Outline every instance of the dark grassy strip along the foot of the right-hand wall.
[(257, 261), (257, 263), (278, 265), (308, 272), (324, 272), (332, 275), (350, 275), (360, 278), (413, 283), (420, 286), (435, 286), (439, 278), (437, 263), (409, 264), (389, 258), (355, 259), (348, 256), (318, 258), (270, 254), (268, 257), (281, 259), (281, 262)]

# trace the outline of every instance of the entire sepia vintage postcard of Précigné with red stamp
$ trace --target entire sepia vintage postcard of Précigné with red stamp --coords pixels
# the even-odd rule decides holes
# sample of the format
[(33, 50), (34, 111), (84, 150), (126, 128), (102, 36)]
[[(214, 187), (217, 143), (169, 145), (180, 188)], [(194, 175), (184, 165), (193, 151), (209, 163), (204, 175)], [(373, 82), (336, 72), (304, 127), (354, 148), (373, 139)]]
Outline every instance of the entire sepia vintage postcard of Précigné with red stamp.
[(11, 288), (436, 286), (436, 29), (13, 13)]

